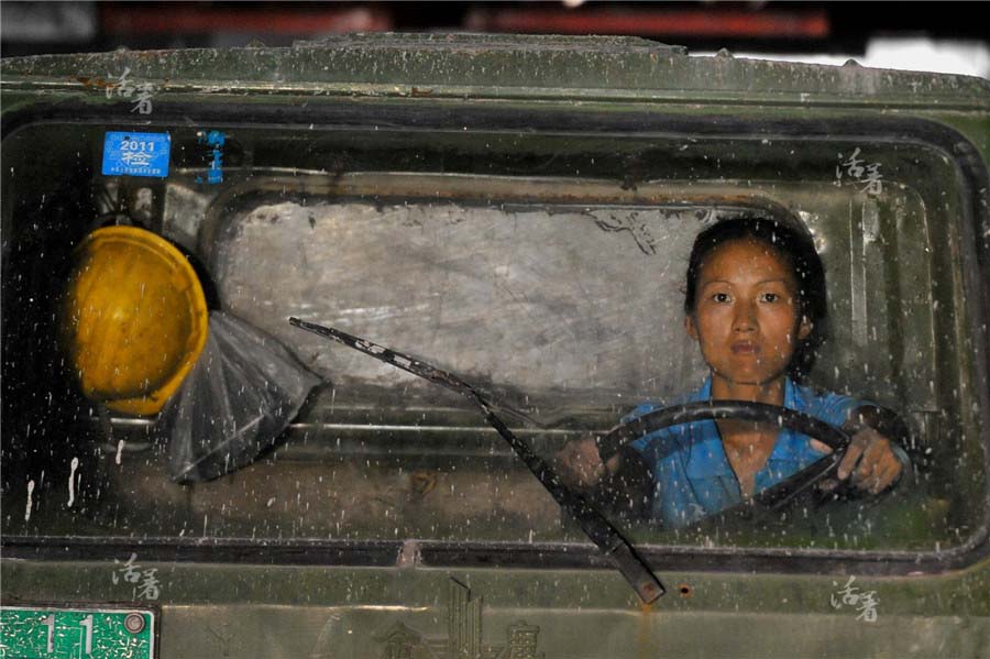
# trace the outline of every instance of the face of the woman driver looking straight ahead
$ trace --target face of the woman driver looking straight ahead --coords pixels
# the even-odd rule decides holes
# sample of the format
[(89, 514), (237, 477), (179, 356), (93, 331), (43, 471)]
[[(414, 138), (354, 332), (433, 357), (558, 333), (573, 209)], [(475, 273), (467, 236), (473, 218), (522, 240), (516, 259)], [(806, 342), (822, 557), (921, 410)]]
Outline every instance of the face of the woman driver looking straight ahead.
[(688, 333), (712, 375), (730, 385), (782, 378), (811, 323), (799, 317), (798, 282), (768, 245), (739, 239), (715, 248), (698, 273)]

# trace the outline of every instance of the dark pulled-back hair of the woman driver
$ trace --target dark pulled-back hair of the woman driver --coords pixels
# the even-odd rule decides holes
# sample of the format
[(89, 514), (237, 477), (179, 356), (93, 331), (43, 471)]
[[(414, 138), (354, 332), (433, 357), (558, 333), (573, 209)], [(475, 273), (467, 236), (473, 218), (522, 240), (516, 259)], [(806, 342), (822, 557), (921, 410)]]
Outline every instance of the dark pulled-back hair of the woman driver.
[(684, 311), (694, 312), (697, 277), (708, 255), (719, 245), (751, 240), (773, 250), (794, 273), (798, 282), (798, 312), (812, 323), (811, 333), (794, 351), (788, 374), (802, 380), (814, 365), (816, 350), (825, 338), (825, 317), (828, 311), (825, 288), (825, 267), (815, 251), (811, 234), (803, 227), (769, 218), (722, 220), (708, 227), (694, 240), (688, 260), (688, 285), (684, 289)]

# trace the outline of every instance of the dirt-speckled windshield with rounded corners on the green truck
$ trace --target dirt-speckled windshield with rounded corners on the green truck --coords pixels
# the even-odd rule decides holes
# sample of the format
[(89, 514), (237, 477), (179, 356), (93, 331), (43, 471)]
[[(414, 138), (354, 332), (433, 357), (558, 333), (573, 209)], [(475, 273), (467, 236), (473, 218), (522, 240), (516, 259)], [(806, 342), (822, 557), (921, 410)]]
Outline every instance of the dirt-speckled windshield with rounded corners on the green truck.
[[(638, 546), (966, 545), (986, 483), (968, 220), (947, 193), (959, 174), (939, 147), (871, 130), (13, 130), (3, 535), (587, 541), (470, 402), (295, 317), (470, 383)], [(689, 293), (692, 250), (713, 228), (760, 222), (778, 229), (713, 243), (694, 285), (778, 268), (781, 290), (752, 299), (793, 303), (791, 325), (774, 339), (759, 320), (765, 343), (722, 349), (706, 305), (735, 298)], [(823, 281), (803, 278), (781, 228)], [(778, 403), (845, 426), (862, 453), (846, 471), (869, 473), (837, 482), (845, 446), (780, 415), (749, 428), (756, 462), (733, 452), (752, 435), (733, 417), (598, 453), (620, 421), (719, 397), (738, 371), (719, 359), (761, 350), (779, 362)], [(881, 448), (862, 450), (864, 428)], [(831, 454), (834, 471), (788, 505), (749, 505)]]

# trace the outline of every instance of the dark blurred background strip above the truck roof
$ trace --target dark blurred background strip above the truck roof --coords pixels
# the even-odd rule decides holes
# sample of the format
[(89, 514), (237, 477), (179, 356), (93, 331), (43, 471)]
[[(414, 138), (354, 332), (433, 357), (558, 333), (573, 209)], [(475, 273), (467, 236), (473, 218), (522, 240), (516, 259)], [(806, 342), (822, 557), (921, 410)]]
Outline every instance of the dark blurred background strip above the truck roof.
[[(2, 56), (121, 46), (284, 46), (344, 32), (472, 31), (627, 34), (685, 45), (695, 53), (727, 47), (737, 53), (858, 58), (875, 53), (878, 39), (887, 44), (891, 39), (927, 40), (939, 51), (961, 44), (964, 67), (990, 74), (985, 63), (990, 57), (990, 21), (982, 2), (578, 2), (4, 0)], [(928, 69), (926, 61), (934, 66), (938, 58), (932, 47), (922, 48), (904, 67)], [(895, 63), (901, 59), (894, 57)]]

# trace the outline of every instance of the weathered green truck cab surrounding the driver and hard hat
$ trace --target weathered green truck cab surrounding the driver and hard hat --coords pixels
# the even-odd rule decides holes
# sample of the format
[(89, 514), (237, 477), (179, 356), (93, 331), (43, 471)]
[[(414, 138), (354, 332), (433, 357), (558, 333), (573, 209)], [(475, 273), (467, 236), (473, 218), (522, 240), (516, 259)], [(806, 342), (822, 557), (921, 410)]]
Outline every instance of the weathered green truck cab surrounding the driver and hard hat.
[[(0, 656), (987, 651), (987, 80), (463, 34), (0, 73)], [(910, 473), (685, 528), (600, 510), (651, 602), (470, 402), (288, 322), (457, 374), (552, 464), (700, 383), (688, 254), (754, 216), (813, 237), (809, 381), (895, 410)], [(197, 471), (166, 413), (82, 395), (59, 309), (107, 223), (311, 374), (284, 428)]]

